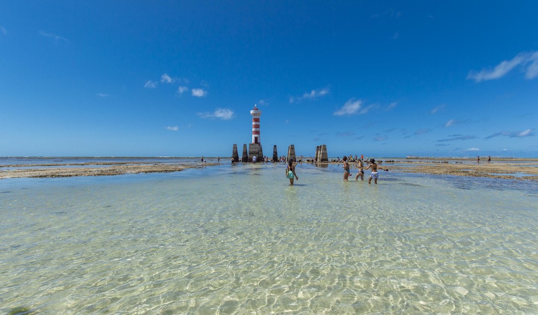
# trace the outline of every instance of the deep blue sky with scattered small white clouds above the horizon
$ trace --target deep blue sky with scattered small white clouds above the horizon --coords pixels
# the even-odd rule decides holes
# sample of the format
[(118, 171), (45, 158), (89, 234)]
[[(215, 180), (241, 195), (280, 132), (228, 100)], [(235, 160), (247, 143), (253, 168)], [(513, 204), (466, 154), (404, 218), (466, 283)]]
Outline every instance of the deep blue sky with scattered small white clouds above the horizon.
[(5, 1), (0, 156), (538, 157), (538, 2)]

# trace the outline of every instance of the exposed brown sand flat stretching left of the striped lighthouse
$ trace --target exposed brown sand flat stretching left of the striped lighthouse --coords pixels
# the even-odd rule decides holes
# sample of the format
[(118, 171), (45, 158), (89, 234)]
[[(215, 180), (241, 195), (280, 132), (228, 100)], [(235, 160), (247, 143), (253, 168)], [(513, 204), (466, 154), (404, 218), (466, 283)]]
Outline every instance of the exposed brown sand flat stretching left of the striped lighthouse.
[[(0, 165), (0, 179), (18, 177), (71, 177), (138, 173), (169, 173), (173, 171), (181, 171), (187, 168), (202, 168), (213, 165), (217, 165), (217, 163), (166, 164), (140, 162), (87, 162), (67, 164), (12, 164)], [(15, 169), (3, 170), (5, 167)]]

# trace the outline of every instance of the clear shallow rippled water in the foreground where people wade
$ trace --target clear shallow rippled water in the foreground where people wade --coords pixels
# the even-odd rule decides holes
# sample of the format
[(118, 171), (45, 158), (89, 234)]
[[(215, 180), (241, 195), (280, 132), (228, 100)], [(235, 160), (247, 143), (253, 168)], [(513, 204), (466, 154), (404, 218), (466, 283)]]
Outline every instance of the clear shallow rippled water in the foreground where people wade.
[(284, 169), (0, 180), (0, 313), (538, 310), (538, 184)]

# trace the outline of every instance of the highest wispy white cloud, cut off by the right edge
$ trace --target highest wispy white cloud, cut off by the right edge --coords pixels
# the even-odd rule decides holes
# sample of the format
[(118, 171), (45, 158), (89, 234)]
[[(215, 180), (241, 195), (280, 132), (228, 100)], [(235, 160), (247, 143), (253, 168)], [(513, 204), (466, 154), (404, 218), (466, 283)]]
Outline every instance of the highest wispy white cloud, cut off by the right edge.
[(538, 51), (530, 53), (519, 53), (512, 60), (504, 60), (499, 65), (495, 66), (493, 70), (482, 69), (479, 72), (470, 71), (467, 76), (468, 79), (480, 82), (483, 80), (494, 80), (505, 76), (509, 71), (516, 66), (521, 65), (526, 67), (530, 63), (530, 66), (526, 69), (525, 77), (528, 79), (538, 76)]

